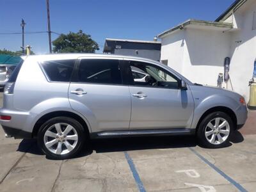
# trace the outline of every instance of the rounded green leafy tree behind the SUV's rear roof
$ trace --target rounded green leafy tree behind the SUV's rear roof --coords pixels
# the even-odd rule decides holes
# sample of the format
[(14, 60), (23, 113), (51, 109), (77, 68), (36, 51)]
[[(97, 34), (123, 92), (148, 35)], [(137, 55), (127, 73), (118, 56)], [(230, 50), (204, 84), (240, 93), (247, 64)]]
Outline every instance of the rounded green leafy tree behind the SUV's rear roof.
[(78, 33), (61, 34), (52, 42), (52, 45), (54, 45), (54, 52), (95, 52), (99, 50), (97, 42), (82, 30), (79, 30)]

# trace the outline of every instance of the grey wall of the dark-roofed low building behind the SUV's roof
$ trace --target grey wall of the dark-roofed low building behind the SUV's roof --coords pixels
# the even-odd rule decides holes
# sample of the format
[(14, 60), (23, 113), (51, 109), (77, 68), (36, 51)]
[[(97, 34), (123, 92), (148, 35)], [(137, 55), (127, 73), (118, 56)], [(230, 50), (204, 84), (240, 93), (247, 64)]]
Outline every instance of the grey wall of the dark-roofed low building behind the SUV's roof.
[[(138, 51), (138, 54), (136, 51)], [(115, 49), (115, 54), (121, 54), (125, 56), (137, 56), (141, 58), (148, 58), (150, 60), (160, 61), (161, 51), (145, 49)]]

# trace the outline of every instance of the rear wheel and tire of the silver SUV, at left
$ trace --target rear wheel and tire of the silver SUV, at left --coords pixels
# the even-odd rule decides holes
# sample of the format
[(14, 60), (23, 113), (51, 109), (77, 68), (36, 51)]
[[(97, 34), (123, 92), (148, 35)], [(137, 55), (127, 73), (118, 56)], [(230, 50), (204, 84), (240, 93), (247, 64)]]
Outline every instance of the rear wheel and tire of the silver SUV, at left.
[(83, 125), (67, 116), (47, 120), (37, 135), (38, 146), (50, 159), (70, 159), (76, 156), (83, 148), (85, 140), (86, 131)]

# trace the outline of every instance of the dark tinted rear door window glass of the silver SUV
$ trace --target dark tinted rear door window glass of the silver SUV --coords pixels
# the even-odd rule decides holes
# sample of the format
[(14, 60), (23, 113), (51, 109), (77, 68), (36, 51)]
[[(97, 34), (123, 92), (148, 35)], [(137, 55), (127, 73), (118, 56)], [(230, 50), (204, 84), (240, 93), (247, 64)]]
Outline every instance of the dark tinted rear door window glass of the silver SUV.
[(122, 84), (118, 60), (81, 60), (78, 80), (83, 83)]

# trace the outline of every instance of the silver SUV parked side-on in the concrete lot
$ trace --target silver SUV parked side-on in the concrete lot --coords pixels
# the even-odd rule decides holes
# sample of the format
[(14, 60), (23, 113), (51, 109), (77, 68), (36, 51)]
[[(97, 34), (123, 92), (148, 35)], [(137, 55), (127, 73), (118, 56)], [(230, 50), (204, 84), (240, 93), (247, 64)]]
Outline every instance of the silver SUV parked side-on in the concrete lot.
[(157, 61), (107, 54), (24, 58), (0, 109), (6, 137), (37, 138), (54, 159), (75, 156), (92, 138), (195, 134), (205, 147), (223, 147), (246, 118), (235, 92), (193, 84)]

